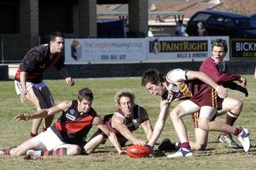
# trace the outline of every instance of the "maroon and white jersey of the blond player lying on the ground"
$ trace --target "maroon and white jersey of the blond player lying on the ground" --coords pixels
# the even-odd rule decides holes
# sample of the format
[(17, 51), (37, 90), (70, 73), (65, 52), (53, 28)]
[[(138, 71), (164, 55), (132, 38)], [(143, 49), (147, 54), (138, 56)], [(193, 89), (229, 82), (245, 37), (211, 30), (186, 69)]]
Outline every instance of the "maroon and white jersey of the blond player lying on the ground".
[(141, 110), (140, 106), (138, 106), (137, 104), (134, 104), (133, 117), (132, 117), (132, 119), (129, 119), (129, 118), (125, 117), (125, 114), (119, 108), (118, 110), (115, 111), (115, 113), (106, 115), (103, 118), (103, 122), (108, 127), (108, 129), (110, 131), (115, 132), (115, 133), (120, 133), (118, 130), (116, 130), (114, 127), (112, 127), (112, 117), (113, 117), (113, 115), (115, 115), (116, 117), (122, 118), (124, 120), (124, 125), (126, 125), (127, 128), (133, 132), (133, 131), (136, 131), (140, 127), (140, 124), (145, 122), (145, 120), (148, 120), (148, 118), (141, 118), (140, 110)]

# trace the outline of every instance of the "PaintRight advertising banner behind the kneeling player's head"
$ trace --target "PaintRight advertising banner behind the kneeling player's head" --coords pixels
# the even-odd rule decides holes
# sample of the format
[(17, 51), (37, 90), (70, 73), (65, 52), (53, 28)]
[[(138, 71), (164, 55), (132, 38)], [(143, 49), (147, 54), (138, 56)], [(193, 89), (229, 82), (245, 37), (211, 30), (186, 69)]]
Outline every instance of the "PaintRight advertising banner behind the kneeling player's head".
[[(228, 36), (148, 38), (147, 60), (202, 61), (211, 56), (212, 40), (220, 38), (227, 41), (229, 49)], [(229, 57), (227, 52), (225, 60)]]

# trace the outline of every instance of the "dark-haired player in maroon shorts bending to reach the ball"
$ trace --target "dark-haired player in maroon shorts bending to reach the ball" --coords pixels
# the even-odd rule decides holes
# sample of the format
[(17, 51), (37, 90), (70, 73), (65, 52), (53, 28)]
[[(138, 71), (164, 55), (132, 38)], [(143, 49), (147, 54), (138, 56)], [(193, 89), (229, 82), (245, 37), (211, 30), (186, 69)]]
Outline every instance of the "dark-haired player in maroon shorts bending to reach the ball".
[(198, 71), (174, 69), (164, 77), (156, 69), (148, 69), (143, 74), (141, 85), (148, 89), (150, 94), (161, 96), (159, 118), (148, 146), (154, 146), (154, 143), (159, 138), (169, 113), (170, 103), (187, 98), (170, 111), (170, 117), (172, 118), (174, 129), (179, 136), (181, 147), (178, 152), (168, 155), (168, 157), (192, 156), (186, 127), (181, 117), (196, 111), (200, 111), (200, 129), (232, 133), (241, 141), (245, 152), (250, 149), (250, 138), (247, 129), (232, 127), (215, 121), (210, 122), (211, 118), (216, 114), (217, 108), (220, 107), (223, 98), (227, 97), (227, 90), (216, 84), (206, 74)]

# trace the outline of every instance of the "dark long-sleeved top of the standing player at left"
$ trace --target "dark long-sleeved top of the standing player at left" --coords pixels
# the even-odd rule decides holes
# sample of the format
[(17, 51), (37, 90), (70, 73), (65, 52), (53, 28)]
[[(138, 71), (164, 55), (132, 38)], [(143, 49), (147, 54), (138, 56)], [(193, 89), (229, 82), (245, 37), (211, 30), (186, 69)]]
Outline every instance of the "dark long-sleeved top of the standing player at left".
[(31, 48), (20, 62), (19, 69), (15, 75), (15, 80), (20, 81), (20, 72), (26, 72), (26, 81), (40, 83), (44, 71), (51, 66), (58, 70), (65, 67), (62, 53), (56, 53), (51, 57), (50, 45), (39, 45)]

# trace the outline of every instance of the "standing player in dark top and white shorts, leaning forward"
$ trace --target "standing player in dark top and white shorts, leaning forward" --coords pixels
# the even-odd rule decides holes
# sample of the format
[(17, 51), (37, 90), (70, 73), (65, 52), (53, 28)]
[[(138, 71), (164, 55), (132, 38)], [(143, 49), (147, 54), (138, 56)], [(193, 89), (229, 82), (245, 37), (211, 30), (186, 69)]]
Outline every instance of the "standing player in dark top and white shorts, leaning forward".
[[(68, 86), (74, 85), (73, 79), (68, 75), (63, 60), (64, 37), (60, 32), (53, 32), (50, 36), (51, 41), (47, 45), (39, 45), (31, 48), (26, 53), (20, 63), (19, 69), (15, 74), (15, 90), (20, 96), (20, 101), (28, 100), (33, 103), (37, 110), (51, 108), (54, 100), (51, 91), (44, 81), (43, 74), (49, 67), (54, 66), (65, 78)], [(43, 131), (52, 124), (53, 115), (44, 118)], [(30, 138), (38, 134), (38, 127), (42, 118), (32, 120)]]

